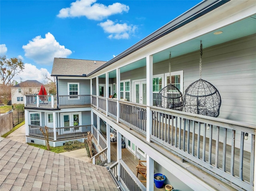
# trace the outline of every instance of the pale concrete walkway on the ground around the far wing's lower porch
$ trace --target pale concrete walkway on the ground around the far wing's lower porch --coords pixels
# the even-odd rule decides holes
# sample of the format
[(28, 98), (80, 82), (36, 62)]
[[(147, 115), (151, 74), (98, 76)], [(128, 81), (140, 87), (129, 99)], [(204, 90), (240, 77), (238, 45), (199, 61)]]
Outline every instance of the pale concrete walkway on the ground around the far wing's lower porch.
[[(18, 129), (16, 129), (10, 135), (8, 135), (6, 137), (6, 139), (10, 139), (10, 140), (20, 142), (20, 143), (26, 143), (25, 124), (20, 126)], [(63, 153), (60, 153), (60, 154), (68, 156), (68, 157), (76, 158), (76, 159), (79, 159), (79, 160), (82, 160), (82, 161), (91, 162), (90, 158), (87, 156), (87, 152), (86, 152), (85, 148), (74, 150), (74, 151), (69, 151), (69, 152), (63, 152)]]

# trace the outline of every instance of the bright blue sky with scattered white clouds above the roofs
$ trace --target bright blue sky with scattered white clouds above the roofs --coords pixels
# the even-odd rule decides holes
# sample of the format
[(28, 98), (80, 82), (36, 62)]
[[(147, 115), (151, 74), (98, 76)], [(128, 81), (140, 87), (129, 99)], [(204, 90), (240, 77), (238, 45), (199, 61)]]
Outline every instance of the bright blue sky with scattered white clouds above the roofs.
[(109, 61), (198, 0), (0, 0), (0, 54), (44, 83), (54, 57)]

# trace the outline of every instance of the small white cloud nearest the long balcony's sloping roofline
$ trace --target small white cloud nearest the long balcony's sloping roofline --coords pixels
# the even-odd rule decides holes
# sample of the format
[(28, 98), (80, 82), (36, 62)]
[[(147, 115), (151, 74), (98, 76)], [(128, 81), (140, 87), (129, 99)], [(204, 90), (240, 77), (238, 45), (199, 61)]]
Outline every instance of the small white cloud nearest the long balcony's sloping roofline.
[(107, 20), (98, 24), (101, 26), (106, 33), (112, 33), (108, 38), (112, 39), (128, 39), (136, 30), (137, 26), (124, 24), (115, 24), (112, 20)]

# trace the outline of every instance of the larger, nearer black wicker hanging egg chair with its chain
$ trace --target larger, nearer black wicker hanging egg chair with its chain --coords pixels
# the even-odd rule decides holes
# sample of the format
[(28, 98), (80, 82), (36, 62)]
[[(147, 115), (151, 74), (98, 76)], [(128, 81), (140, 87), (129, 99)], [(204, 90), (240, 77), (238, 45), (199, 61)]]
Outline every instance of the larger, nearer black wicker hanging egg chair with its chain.
[(200, 43), (200, 79), (188, 86), (184, 94), (184, 111), (218, 117), (220, 114), (220, 93), (202, 75), (202, 41)]

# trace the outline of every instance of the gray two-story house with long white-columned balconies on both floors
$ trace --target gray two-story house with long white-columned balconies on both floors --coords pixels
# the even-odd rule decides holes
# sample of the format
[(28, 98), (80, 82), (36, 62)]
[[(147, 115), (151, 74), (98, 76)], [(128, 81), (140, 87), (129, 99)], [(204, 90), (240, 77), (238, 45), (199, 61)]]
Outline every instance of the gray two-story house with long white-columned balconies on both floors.
[[(202, 79), (221, 96), (218, 118), (155, 106), (169, 83), (170, 61), (172, 83), (183, 95), (200, 78), (200, 41)], [(25, 103), (26, 141), (44, 144), (39, 128), (45, 125), (51, 146), (84, 141), (91, 131), (100, 156), (94, 163), (117, 168), (128, 189), (152, 191), (154, 173), (163, 173), (175, 189), (252, 191), (255, 48), (255, 1), (203, 1), (106, 63), (55, 58), (57, 95)], [(27, 100), (33, 97), (40, 99)], [(110, 132), (117, 135), (113, 165)], [(133, 159), (122, 156), (123, 143), (134, 161), (146, 160), (144, 185), (132, 172)]]

